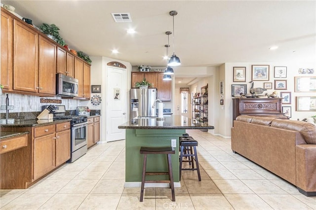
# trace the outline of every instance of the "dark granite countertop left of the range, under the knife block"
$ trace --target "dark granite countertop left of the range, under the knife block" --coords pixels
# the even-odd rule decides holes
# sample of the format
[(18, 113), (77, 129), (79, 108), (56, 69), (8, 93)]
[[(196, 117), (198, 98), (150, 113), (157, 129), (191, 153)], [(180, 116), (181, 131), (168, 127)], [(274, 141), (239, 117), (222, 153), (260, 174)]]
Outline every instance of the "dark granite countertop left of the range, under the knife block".
[(1, 127), (34, 127), (34, 126), (50, 125), (50, 124), (56, 124), (56, 123), (61, 123), (61, 122), (67, 122), (67, 121), (71, 121), (71, 119), (62, 119), (62, 120), (29, 119), (29, 120), (21, 120), (21, 121), (15, 120), (14, 124), (1, 124)]

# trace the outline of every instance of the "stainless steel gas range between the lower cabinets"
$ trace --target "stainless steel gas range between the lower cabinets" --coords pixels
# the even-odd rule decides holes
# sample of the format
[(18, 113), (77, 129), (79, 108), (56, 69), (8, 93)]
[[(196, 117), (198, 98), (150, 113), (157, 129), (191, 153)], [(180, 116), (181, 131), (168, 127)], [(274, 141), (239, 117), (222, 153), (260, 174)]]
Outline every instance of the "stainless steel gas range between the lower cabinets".
[[(43, 106), (44, 108), (44, 106)], [(54, 119), (71, 119), (71, 158), (68, 163), (72, 163), (88, 151), (87, 147), (87, 132), (88, 119), (83, 115), (65, 115), (65, 106), (56, 105), (52, 110), (54, 112)]]

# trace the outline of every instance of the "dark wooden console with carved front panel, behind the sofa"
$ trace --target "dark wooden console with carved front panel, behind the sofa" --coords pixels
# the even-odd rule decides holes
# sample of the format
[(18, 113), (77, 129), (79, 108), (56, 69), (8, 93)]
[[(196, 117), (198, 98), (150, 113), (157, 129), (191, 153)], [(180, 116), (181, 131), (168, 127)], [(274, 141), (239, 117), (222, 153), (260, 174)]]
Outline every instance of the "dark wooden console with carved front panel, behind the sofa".
[(289, 119), (282, 113), (282, 98), (235, 98), (233, 122), (239, 115)]

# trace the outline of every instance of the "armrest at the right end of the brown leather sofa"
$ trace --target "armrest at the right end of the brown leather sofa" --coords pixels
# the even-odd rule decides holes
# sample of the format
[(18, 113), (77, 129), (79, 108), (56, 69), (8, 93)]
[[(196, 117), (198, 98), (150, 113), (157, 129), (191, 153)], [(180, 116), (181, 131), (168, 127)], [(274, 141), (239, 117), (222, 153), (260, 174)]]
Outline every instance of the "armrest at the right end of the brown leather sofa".
[(316, 144), (296, 145), (296, 186), (316, 195)]

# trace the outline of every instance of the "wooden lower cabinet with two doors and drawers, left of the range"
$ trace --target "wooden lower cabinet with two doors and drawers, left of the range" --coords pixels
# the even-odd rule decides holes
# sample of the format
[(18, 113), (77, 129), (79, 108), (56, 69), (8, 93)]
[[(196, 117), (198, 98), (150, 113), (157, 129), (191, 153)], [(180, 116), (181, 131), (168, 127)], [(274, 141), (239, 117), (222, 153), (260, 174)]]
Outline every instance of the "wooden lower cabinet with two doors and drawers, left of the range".
[(34, 129), (34, 174), (38, 179), (70, 159), (70, 122)]

